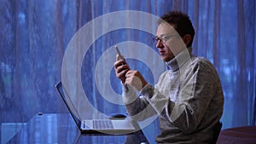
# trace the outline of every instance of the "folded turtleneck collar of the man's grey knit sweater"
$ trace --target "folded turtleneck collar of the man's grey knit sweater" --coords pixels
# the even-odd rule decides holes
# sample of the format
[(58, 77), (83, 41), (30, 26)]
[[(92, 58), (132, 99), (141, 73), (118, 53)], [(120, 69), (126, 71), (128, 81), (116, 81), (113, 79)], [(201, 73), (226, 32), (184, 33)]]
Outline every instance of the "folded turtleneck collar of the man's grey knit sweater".
[(178, 55), (176, 55), (172, 60), (166, 62), (166, 65), (169, 66), (172, 72), (175, 72), (182, 67), (186, 61), (189, 60), (191, 55), (192, 48), (183, 49)]

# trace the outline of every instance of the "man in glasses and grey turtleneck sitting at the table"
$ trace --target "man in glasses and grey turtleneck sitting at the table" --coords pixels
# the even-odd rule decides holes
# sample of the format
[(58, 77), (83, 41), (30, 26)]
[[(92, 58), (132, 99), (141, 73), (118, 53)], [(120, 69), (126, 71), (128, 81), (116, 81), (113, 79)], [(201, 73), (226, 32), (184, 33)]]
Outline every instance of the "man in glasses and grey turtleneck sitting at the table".
[(131, 70), (125, 60), (119, 60), (121, 55), (114, 63), (131, 118), (143, 120), (159, 114), (161, 133), (156, 141), (160, 143), (216, 141), (216, 125), (224, 107), (223, 90), (212, 63), (191, 55), (194, 35), (187, 14), (173, 11), (161, 17), (154, 41), (169, 70), (161, 74), (155, 86), (148, 84), (140, 72)]

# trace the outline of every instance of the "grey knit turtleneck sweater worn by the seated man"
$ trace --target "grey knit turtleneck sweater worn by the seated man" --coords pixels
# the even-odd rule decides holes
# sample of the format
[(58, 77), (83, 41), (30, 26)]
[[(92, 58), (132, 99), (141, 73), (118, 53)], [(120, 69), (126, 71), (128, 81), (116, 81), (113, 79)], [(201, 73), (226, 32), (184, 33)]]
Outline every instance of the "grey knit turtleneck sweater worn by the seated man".
[(130, 85), (123, 85), (131, 119), (140, 121), (159, 114), (159, 143), (211, 143), (214, 125), (223, 113), (218, 73), (209, 60), (189, 51), (183, 50), (166, 63), (170, 70), (162, 73), (155, 86), (147, 84), (140, 96)]

